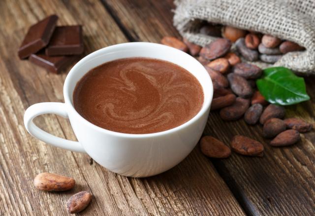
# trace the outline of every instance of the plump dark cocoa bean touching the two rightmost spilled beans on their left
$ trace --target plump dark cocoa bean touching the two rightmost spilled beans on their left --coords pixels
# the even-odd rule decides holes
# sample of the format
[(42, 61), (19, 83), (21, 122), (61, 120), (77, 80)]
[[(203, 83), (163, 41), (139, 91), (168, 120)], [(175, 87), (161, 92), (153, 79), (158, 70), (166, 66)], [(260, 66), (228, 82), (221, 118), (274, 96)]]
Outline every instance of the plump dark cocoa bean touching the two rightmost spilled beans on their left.
[(270, 118), (268, 119), (263, 127), (263, 136), (266, 138), (274, 137), (281, 132), (285, 131), (285, 123), (280, 118)]

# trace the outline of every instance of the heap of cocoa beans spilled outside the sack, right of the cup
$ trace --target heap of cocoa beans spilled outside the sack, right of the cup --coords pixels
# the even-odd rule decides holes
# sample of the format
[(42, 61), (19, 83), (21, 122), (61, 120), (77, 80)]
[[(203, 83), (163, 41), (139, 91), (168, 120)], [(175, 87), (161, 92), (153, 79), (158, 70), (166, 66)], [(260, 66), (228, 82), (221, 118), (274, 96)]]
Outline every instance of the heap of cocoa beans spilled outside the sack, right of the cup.
[[(211, 110), (219, 111), (224, 121), (244, 117), (249, 125), (261, 124), (263, 136), (271, 139), (271, 146), (277, 147), (298, 142), (300, 133), (312, 129), (312, 125), (302, 119), (283, 120), (284, 107), (269, 104), (256, 88), (255, 80), (262, 75), (262, 70), (253, 64), (241, 62), (241, 58), (230, 51), (230, 39), (218, 38), (203, 48), (186, 39), (171, 36), (163, 37), (161, 43), (195, 56), (204, 65), (214, 86)], [(241, 155), (263, 156), (264, 146), (246, 136), (234, 136), (230, 146)], [(203, 154), (211, 158), (227, 158), (231, 154), (227, 145), (212, 136), (202, 137), (200, 147)]]

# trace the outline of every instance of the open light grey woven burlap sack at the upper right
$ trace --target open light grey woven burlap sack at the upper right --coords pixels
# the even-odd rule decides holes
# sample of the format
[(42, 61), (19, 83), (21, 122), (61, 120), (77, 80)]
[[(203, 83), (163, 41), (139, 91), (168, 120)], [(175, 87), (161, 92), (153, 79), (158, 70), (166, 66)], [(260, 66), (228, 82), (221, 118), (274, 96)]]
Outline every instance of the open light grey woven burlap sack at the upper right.
[(174, 26), (204, 46), (215, 37), (200, 34), (203, 20), (271, 34), (306, 51), (285, 54), (277, 66), (315, 74), (315, 0), (175, 0)]

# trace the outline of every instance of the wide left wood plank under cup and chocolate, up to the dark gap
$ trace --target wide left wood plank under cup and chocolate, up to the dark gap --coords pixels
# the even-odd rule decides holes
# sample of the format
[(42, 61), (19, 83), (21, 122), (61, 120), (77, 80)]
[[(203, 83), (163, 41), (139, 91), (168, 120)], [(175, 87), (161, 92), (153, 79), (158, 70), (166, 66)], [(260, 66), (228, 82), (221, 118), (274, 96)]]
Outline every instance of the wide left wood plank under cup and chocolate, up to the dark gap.
[[(0, 1), (0, 215), (67, 215), (66, 200), (81, 190), (91, 191), (94, 198), (80, 215), (244, 215), (199, 149), (163, 174), (133, 179), (107, 171), (86, 154), (49, 146), (26, 132), (27, 107), (63, 102), (66, 73), (50, 74), (17, 57), (27, 28), (54, 13), (60, 17), (58, 25), (84, 26), (85, 54), (128, 41), (97, 0)], [(61, 117), (40, 116), (35, 123), (54, 135), (76, 139)], [(77, 185), (67, 192), (36, 190), (32, 180), (40, 172), (71, 176)]]

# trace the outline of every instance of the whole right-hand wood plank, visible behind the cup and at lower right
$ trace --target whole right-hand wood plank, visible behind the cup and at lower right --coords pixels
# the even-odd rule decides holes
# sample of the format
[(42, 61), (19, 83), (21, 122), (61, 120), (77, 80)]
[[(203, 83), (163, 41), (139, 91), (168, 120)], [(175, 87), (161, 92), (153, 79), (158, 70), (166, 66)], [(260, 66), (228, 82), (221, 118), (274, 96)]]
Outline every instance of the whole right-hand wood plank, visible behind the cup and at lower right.
[[(179, 36), (172, 26), (172, 1), (103, 0), (103, 3), (134, 40), (159, 42), (165, 35)], [(314, 78), (307, 78), (307, 82), (312, 100), (287, 108), (286, 116), (315, 123)], [(263, 158), (233, 154), (226, 160), (208, 160), (214, 163), (249, 215), (315, 214), (314, 130), (301, 135), (302, 141), (297, 145), (274, 148), (267, 144), (269, 140), (262, 138), (260, 126), (248, 126), (243, 120), (227, 123), (218, 112), (213, 112), (204, 134), (216, 136), (227, 144), (238, 134), (264, 143)], [(197, 153), (196, 157), (203, 156)]]

